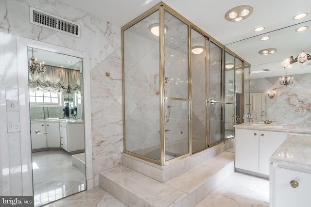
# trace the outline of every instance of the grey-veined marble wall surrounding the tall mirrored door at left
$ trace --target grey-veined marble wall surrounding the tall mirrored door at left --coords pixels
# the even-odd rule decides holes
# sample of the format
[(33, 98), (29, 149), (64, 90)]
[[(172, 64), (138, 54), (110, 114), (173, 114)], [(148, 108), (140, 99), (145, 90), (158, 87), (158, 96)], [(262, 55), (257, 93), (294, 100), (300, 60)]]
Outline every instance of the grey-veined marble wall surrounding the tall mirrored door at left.
[[(81, 38), (31, 24), (29, 6), (79, 23)], [(22, 163), (21, 159), (31, 154), (31, 148), (26, 147), (30, 146), (30, 140), (22, 143), (25, 134), (22, 125), (21, 132), (6, 130), (7, 122), (21, 122), (20, 111), (6, 110), (7, 100), (22, 98), (18, 95), (17, 37), (89, 53), (92, 172), (94, 186), (98, 186), (99, 171), (121, 164), (121, 29), (57, 0), (1, 0), (0, 14), (0, 64), (4, 65), (0, 69), (0, 194), (33, 193), (32, 186), (22, 185), (22, 180), (32, 177), (31, 161)], [(106, 72), (110, 77), (105, 76)]]

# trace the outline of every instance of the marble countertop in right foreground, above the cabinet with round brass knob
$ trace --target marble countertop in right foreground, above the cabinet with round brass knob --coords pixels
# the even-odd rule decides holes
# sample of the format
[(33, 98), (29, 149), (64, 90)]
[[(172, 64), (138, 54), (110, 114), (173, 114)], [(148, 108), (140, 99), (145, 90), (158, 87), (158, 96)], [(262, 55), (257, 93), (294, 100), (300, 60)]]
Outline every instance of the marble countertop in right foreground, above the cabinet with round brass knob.
[(270, 159), (311, 166), (311, 137), (289, 135)]

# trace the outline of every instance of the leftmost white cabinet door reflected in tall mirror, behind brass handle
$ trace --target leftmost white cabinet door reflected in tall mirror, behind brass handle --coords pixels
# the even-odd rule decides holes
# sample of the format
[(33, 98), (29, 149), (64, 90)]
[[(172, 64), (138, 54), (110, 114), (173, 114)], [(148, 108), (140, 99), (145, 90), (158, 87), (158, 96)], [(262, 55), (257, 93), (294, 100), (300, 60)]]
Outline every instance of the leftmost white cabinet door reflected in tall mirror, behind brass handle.
[(35, 131), (46, 132), (45, 122), (31, 123), (31, 148), (32, 149), (46, 148), (47, 147), (46, 134), (35, 133)]

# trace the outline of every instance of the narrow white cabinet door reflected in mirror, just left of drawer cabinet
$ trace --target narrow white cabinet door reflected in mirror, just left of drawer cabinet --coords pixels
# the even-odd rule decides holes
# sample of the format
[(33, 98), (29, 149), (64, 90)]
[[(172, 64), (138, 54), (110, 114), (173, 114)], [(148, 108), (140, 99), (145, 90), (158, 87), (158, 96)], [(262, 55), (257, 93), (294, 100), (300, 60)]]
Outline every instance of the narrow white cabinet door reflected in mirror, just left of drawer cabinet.
[(47, 122), (46, 132), (48, 147), (60, 147), (59, 122)]

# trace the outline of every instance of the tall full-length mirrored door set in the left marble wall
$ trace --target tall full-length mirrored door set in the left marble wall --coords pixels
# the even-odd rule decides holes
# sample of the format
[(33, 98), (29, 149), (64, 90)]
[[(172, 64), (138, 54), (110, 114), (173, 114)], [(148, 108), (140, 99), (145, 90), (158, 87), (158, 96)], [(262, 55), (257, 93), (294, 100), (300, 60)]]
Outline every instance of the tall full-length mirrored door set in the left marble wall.
[[(82, 59), (28, 48), (35, 206), (86, 190)], [(43, 64), (44, 62), (44, 64)], [(39, 69), (39, 70), (38, 70)]]

